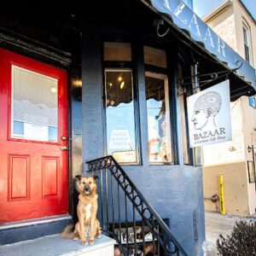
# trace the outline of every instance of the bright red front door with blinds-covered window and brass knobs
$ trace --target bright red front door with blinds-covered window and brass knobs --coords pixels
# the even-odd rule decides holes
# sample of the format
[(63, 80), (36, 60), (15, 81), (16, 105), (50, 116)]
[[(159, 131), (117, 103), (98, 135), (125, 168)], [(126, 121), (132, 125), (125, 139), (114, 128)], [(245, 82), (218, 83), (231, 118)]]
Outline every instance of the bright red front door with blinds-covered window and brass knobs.
[(0, 49), (0, 223), (63, 213), (67, 74)]

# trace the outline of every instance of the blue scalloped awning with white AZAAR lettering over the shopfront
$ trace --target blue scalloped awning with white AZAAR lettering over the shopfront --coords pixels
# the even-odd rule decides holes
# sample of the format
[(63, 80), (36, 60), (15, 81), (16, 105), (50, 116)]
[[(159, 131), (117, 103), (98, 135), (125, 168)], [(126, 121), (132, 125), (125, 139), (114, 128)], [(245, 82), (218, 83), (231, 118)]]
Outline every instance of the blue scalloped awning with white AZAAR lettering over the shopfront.
[[(234, 81), (236, 80), (233, 100), (236, 100), (239, 96), (253, 96), (256, 93), (255, 69), (241, 55), (238, 55), (234, 49), (231, 49), (223, 39), (219, 38), (185, 3), (180, 0), (140, 1), (160, 15), (169, 26), (182, 33), (183, 37), (196, 44), (198, 49), (201, 49), (205, 55), (230, 70)], [(238, 66), (241, 67), (236, 69)], [(233, 71), (234, 69), (236, 71)]]

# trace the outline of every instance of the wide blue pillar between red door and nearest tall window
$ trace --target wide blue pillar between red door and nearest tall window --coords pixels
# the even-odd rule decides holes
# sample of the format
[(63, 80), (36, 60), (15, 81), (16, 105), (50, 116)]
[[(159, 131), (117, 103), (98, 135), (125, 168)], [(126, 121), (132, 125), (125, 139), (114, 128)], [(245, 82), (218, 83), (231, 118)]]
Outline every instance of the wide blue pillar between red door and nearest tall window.
[(82, 35), (83, 162), (103, 156), (101, 37), (84, 22)]

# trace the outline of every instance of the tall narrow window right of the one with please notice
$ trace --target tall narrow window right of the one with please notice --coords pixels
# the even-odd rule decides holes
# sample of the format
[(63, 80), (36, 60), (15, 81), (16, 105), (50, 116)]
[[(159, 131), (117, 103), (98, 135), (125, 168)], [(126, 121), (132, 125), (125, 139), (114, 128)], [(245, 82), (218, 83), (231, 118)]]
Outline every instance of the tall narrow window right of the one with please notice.
[(148, 150), (151, 164), (172, 163), (172, 139), (168, 79), (146, 73)]

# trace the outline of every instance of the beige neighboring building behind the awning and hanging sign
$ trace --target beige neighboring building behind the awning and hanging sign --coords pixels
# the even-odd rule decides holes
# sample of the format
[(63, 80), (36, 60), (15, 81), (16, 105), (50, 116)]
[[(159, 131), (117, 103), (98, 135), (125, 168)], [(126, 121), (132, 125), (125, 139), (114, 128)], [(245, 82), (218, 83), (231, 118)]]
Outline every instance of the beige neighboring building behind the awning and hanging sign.
[[(256, 23), (240, 0), (224, 0), (202, 20), (255, 67)], [(224, 173), (226, 213), (241, 216), (253, 214), (256, 208), (255, 177), (250, 183), (247, 166), (247, 161), (253, 161), (253, 150), (248, 152), (247, 148), (256, 144), (255, 96), (250, 102), (251, 106), (246, 97), (241, 97), (230, 105), (232, 141), (204, 147), (205, 197), (218, 195), (218, 174)], [(255, 170), (255, 160), (253, 166)], [(218, 202), (209, 200), (205, 200), (205, 208), (219, 211)]]

